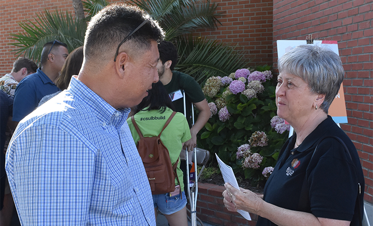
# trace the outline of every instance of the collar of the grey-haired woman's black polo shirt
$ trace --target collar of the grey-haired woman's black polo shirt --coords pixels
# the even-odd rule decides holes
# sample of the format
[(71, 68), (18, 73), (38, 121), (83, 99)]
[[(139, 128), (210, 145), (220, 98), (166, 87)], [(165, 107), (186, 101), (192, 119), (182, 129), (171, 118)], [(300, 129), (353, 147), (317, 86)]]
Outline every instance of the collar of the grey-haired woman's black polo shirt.
[[(319, 141), (320, 138), (324, 137), (326, 133), (328, 133), (328, 130), (326, 128), (330, 128), (330, 126), (333, 124), (333, 119), (331, 116), (328, 116), (326, 120), (321, 122), (319, 126), (316, 127), (316, 129), (310, 133), (304, 141), (301, 143), (301, 145), (297, 148), (296, 151), (298, 152), (304, 152), (306, 150), (309, 150), (315, 143)], [(293, 136), (291, 145), (295, 144), (296, 141), (296, 135)]]

